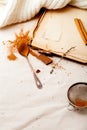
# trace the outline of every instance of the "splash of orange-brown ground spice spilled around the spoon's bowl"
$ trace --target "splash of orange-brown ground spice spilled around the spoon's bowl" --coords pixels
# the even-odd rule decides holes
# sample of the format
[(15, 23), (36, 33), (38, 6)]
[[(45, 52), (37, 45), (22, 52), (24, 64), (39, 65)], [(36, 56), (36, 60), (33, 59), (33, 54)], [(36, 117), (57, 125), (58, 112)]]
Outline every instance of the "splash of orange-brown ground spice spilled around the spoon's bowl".
[(8, 51), (9, 51), (9, 55), (7, 56), (7, 58), (9, 60), (16, 60), (17, 56), (15, 55), (16, 51), (22, 52), (23, 54), (27, 54), (28, 48), (24, 48), (26, 47), (26, 45), (28, 45), (30, 43), (30, 37), (29, 37), (29, 31), (25, 32), (23, 31), (23, 29), (20, 30), (19, 34), (15, 34), (15, 40), (14, 41), (8, 41)]

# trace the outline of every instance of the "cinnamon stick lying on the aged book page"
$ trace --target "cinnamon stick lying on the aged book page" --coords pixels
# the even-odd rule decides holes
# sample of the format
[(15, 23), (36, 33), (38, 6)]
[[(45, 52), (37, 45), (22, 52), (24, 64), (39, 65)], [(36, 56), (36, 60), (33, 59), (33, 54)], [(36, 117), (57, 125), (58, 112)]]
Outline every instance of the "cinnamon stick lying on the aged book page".
[(78, 29), (78, 31), (79, 31), (79, 33), (80, 33), (80, 35), (81, 35), (81, 37), (82, 37), (84, 43), (87, 44), (87, 33), (86, 33), (86, 30), (85, 30), (85, 28), (84, 28), (84, 26), (83, 26), (81, 20), (75, 18), (74, 21), (75, 21), (75, 24), (76, 24), (76, 26), (77, 26), (77, 29)]

